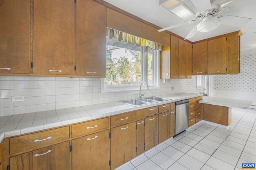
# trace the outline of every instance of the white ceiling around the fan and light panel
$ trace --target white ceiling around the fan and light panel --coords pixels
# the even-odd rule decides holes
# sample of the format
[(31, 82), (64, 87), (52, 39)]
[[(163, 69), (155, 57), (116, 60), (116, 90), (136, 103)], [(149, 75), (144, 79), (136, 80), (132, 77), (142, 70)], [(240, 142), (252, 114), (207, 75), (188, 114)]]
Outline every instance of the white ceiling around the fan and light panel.
[[(167, 12), (158, 5), (158, 0), (104, 0), (126, 12), (129, 12), (143, 20), (165, 28), (171, 25), (181, 23), (182, 21)], [(204, 0), (202, 0), (204, 1)], [(212, 1), (212, 0), (211, 0)], [(214, 4), (221, 4), (226, 0), (214, 0)], [(226, 5), (230, 10), (225, 15), (240, 16), (252, 18), (251, 21), (242, 27), (232, 27), (220, 25), (217, 29), (208, 33), (196, 33), (194, 37), (188, 39), (192, 42), (202, 39), (223, 35), (226, 33), (241, 30), (244, 35), (241, 37), (241, 55), (256, 53), (256, 0), (234, 0)], [(186, 37), (188, 33), (196, 26), (197, 23), (184, 25), (169, 29), (172, 33)]]

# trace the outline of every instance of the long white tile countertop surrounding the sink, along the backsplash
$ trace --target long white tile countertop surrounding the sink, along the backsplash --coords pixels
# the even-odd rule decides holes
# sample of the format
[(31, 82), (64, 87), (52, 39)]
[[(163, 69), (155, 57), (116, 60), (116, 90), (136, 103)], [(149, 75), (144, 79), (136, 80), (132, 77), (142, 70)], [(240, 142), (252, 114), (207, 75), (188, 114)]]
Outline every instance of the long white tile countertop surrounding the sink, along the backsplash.
[(177, 102), (198, 96), (202, 96), (202, 94), (177, 93), (158, 96), (172, 100), (150, 103), (142, 106), (130, 106), (122, 102), (111, 102), (90, 106), (3, 116), (0, 117), (0, 142), (4, 139), (4, 137), (11, 137), (62, 125), (68, 125), (71, 123), (78, 123), (100, 117), (116, 115), (137, 109), (159, 106), (162, 104)]

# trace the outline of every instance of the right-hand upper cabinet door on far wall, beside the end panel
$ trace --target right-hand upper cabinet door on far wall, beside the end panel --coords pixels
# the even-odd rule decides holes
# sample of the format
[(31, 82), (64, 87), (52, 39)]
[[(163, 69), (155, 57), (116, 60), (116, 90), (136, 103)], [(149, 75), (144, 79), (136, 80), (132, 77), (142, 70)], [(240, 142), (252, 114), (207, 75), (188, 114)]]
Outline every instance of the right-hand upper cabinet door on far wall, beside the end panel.
[(208, 74), (226, 74), (226, 37), (208, 41)]

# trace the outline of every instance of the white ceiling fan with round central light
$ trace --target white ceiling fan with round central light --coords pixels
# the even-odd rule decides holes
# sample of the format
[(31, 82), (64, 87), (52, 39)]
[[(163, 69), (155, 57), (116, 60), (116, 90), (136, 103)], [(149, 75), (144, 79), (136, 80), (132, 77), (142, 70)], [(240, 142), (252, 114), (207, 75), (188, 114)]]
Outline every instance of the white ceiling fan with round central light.
[(219, 4), (211, 4), (211, 1), (210, 0), (191, 0), (191, 2), (196, 7), (196, 10), (198, 10), (198, 12), (196, 12), (196, 20), (178, 23), (170, 27), (159, 29), (158, 31), (161, 32), (161, 31), (165, 31), (167, 29), (172, 29), (182, 25), (190, 25), (192, 23), (200, 22), (185, 37), (185, 39), (190, 39), (198, 31), (210, 32), (216, 29), (220, 24), (241, 27), (248, 21), (252, 20), (251, 18), (222, 15), (223, 13), (228, 12), (230, 8), (221, 6)]

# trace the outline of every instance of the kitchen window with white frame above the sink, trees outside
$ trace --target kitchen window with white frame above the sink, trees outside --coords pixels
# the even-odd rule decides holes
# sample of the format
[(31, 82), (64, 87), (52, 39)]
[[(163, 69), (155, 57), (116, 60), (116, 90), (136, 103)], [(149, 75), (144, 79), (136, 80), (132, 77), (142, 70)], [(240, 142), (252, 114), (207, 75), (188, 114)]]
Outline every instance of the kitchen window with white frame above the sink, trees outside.
[(106, 78), (101, 80), (101, 92), (138, 90), (142, 81), (147, 82), (150, 88), (158, 88), (160, 50), (134, 43), (144, 40), (132, 35), (135, 40), (129, 43), (122, 38), (120, 41), (120, 35), (118, 38), (110, 36), (106, 38), (108, 66)]

